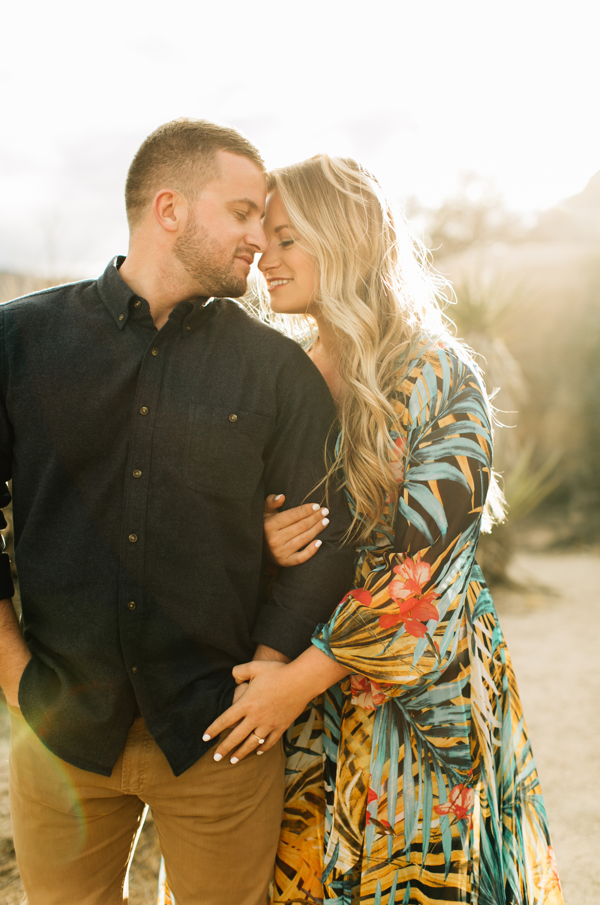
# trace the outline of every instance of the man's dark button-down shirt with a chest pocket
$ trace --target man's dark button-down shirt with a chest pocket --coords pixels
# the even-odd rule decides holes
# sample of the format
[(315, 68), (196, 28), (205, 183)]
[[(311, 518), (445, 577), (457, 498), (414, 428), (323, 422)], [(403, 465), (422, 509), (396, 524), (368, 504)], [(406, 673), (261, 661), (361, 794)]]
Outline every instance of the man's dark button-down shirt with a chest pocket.
[(157, 330), (121, 261), (0, 308), (0, 481), (33, 653), (19, 703), (55, 754), (105, 776), (138, 707), (178, 776), (233, 665), (257, 643), (294, 657), (329, 618), (349, 515), (334, 492), (319, 553), (268, 594), (263, 500), (296, 506), (323, 478), (329, 390), (232, 300), (182, 302)]

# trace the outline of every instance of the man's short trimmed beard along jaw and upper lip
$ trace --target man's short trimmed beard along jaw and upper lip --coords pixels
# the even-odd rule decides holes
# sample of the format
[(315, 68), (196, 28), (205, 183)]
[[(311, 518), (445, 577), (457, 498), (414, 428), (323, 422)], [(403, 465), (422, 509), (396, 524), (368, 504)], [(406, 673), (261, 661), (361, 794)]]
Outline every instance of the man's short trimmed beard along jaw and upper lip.
[(234, 271), (233, 262), (240, 253), (253, 256), (252, 251), (236, 248), (230, 257), (195, 218), (190, 219), (186, 232), (176, 240), (173, 252), (197, 282), (198, 295), (239, 299), (246, 291), (248, 283)]

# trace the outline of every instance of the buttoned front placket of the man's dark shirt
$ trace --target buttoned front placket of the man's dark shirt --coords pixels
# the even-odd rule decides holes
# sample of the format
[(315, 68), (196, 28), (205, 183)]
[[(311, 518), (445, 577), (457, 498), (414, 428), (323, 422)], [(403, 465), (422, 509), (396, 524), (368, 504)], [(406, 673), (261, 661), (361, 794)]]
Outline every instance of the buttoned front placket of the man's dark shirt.
[(123, 655), (134, 685), (137, 677), (143, 678), (146, 666), (144, 654), (138, 647), (138, 637), (144, 610), (144, 548), (149, 471), (158, 397), (168, 340), (172, 335), (173, 328), (169, 329), (167, 326), (157, 333), (148, 346), (139, 371), (129, 433), (121, 525), (119, 629)]

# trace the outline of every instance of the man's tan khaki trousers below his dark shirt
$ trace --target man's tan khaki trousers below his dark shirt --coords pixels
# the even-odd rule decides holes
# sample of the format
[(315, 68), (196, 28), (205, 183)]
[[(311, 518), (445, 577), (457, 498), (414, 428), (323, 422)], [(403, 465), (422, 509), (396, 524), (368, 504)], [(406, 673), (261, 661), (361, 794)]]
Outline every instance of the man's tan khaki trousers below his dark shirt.
[(173, 776), (135, 720), (112, 775), (55, 757), (15, 708), (10, 805), (29, 905), (123, 905), (123, 880), (150, 805), (177, 905), (264, 905), (283, 807), (281, 743), (233, 766), (211, 752)]

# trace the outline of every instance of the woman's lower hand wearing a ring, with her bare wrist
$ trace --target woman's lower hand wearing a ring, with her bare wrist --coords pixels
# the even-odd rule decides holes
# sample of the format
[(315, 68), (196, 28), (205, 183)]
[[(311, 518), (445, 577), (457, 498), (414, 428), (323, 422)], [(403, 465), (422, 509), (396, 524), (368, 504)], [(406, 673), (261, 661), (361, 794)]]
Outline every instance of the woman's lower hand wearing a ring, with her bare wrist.
[(209, 741), (234, 727), (214, 752), (214, 759), (231, 754), (232, 764), (237, 764), (252, 751), (262, 754), (272, 748), (308, 702), (348, 672), (348, 667), (312, 644), (290, 663), (253, 660), (235, 666), (235, 681), (250, 684), (242, 697), (206, 729), (203, 739)]

